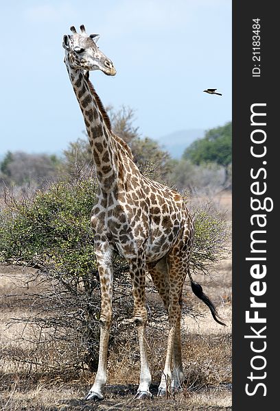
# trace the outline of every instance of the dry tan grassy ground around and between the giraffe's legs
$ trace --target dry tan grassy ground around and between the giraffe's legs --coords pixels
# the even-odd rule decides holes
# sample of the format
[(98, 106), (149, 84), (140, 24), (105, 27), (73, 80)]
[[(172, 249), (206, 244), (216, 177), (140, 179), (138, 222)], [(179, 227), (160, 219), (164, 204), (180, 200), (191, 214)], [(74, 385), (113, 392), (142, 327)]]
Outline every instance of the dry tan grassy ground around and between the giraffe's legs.
[[(228, 199), (222, 201), (226, 202), (225, 207), (230, 208)], [(87, 370), (66, 373), (63, 363), (67, 362), (67, 356), (73, 356), (73, 353), (67, 352), (67, 347), (53, 347), (53, 352), (44, 353), (43, 346), (34, 347), (32, 338), (29, 338), (36, 332), (31, 325), (11, 324), (12, 318), (30, 316), (31, 313), (36, 315), (32, 312), (30, 300), (19, 296), (19, 288), (26, 287), (26, 269), (2, 266), (0, 272), (1, 410), (231, 410), (231, 260), (214, 266), (211, 278), (196, 275), (196, 280), (217, 306), (226, 327), (215, 323), (205, 305), (192, 294), (189, 285), (185, 286), (185, 307), (190, 306), (202, 316), (183, 316), (185, 381), (182, 392), (170, 399), (156, 397), (165, 360), (166, 322), (159, 330), (150, 320), (148, 345), (154, 397), (145, 401), (133, 400), (140, 364), (136, 332), (132, 326), (109, 355), (106, 399), (101, 403), (85, 402), (83, 398), (94, 375)], [(36, 282), (30, 283), (26, 294), (32, 296), (38, 287)], [(11, 297), (1, 298), (1, 295)], [(157, 297), (148, 295), (148, 302), (150, 298)], [(19, 361), (19, 358), (32, 358), (50, 365), (51, 362), (58, 362), (57, 351), (60, 349), (61, 353), (64, 352), (64, 357), (60, 357), (62, 366), (60, 371), (58, 367), (54, 373), (50, 373), (47, 367)]]

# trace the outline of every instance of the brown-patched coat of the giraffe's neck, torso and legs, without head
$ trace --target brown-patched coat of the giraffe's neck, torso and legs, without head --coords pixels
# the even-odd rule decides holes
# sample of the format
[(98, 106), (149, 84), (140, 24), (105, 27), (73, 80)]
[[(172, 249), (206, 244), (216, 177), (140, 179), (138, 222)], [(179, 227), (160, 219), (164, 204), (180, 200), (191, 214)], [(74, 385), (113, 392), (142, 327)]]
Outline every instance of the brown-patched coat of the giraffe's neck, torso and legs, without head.
[[(69, 60), (66, 61), (69, 64)], [(171, 374), (172, 356), (174, 366), (182, 367), (181, 295), (194, 240), (191, 216), (177, 192), (141, 175), (126, 143), (113, 134), (106, 110), (89, 79), (82, 71), (77, 79), (71, 66), (68, 71), (84, 114), (100, 184), (91, 227), (95, 232), (95, 256), (100, 274), (100, 318), (105, 330), (102, 332), (108, 333), (112, 322), (113, 256), (118, 251), (130, 266), (139, 341), (145, 340), (148, 319), (146, 270), (163, 299), (170, 323), (165, 373)], [(106, 338), (100, 346), (105, 351), (108, 349)], [(148, 361), (145, 345), (141, 349)], [(166, 388), (164, 379), (160, 387)]]

